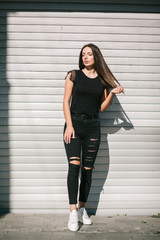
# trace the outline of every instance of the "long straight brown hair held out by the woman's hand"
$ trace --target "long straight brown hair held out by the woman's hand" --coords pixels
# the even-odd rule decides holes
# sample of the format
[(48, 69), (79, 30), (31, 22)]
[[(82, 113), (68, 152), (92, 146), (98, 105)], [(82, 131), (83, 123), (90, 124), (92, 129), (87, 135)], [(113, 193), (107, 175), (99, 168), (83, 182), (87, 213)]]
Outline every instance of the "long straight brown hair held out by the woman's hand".
[(84, 45), (83, 48), (81, 49), (81, 52), (79, 55), (79, 68), (80, 69), (85, 68), (83, 61), (82, 61), (82, 51), (85, 47), (90, 47), (92, 49), (93, 56), (94, 56), (94, 68), (95, 68), (97, 74), (99, 75), (102, 83), (107, 85), (108, 88), (117, 87), (117, 84), (115, 82), (117, 82), (118, 85), (120, 85), (118, 80), (115, 78), (115, 76), (109, 69), (107, 63), (105, 62), (100, 49), (92, 43)]

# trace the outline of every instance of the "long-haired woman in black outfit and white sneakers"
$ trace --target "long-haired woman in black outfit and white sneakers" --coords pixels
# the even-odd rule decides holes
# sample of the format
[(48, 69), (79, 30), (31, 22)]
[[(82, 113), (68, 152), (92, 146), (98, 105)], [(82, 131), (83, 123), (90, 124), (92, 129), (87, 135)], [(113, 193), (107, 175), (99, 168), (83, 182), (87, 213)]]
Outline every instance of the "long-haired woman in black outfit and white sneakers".
[[(110, 105), (115, 94), (123, 92), (123, 87), (94, 44), (90, 43), (82, 48), (79, 68), (67, 74), (63, 101), (66, 120), (63, 134), (68, 158), (67, 187), (70, 203), (68, 228), (71, 231), (78, 230), (78, 221), (88, 225), (92, 223), (85, 206), (100, 143), (98, 112), (103, 112)], [(77, 208), (80, 164), (81, 182)]]

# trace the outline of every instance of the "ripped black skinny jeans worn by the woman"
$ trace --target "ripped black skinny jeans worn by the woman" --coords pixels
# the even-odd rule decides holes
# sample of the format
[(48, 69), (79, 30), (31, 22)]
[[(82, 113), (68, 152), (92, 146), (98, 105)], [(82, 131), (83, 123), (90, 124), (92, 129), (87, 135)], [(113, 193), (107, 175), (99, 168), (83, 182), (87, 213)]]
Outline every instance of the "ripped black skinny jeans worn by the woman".
[[(80, 165), (76, 165), (72, 161), (81, 162), (79, 201), (87, 202), (94, 162), (100, 144), (100, 120), (99, 118), (82, 119), (79, 116), (72, 115), (72, 124), (75, 130), (75, 138), (71, 138), (71, 142), (68, 144), (64, 141), (64, 145), (68, 158), (67, 187), (69, 204), (77, 204)], [(66, 123), (64, 132), (65, 129)]]

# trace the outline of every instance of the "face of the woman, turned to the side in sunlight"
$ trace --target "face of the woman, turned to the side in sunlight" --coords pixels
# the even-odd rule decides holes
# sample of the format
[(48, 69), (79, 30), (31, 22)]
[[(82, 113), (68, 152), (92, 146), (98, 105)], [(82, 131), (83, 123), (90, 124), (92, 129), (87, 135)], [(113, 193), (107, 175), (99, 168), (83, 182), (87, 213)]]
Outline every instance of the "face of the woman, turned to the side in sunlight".
[(82, 61), (85, 67), (94, 66), (94, 56), (90, 47), (85, 47), (82, 51)]

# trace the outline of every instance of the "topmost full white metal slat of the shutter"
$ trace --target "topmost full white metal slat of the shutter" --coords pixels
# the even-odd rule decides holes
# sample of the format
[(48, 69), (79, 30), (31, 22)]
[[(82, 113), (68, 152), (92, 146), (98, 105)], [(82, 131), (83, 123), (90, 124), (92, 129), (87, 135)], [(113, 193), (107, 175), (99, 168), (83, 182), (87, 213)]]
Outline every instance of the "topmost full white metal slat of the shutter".
[[(73, 16), (73, 15), (72, 15)], [(58, 17), (11, 17), (8, 16), (7, 18), (7, 24), (30, 24), (30, 25), (71, 25), (71, 26), (130, 26), (130, 27), (159, 27), (160, 24), (160, 20), (159, 19), (123, 19), (123, 18), (95, 18), (94, 14), (87, 14), (87, 16), (83, 16), (82, 18), (78, 18), (78, 17), (72, 17), (70, 15), (70, 17), (65, 18), (65, 16), (63, 16), (62, 18)]]

